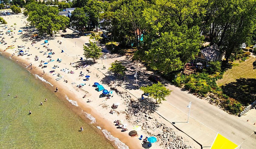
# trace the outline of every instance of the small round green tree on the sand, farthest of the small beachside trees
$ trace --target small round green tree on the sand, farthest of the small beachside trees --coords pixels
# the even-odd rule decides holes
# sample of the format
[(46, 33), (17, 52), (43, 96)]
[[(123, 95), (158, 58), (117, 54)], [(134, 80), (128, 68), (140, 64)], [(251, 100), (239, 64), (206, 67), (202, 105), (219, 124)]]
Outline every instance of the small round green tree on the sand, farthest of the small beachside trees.
[(90, 41), (88, 47), (84, 45), (84, 56), (86, 60), (88, 58), (92, 58), (93, 62), (95, 62), (95, 59), (98, 59), (101, 55), (102, 55), (101, 48), (98, 47), (96, 43), (93, 43)]

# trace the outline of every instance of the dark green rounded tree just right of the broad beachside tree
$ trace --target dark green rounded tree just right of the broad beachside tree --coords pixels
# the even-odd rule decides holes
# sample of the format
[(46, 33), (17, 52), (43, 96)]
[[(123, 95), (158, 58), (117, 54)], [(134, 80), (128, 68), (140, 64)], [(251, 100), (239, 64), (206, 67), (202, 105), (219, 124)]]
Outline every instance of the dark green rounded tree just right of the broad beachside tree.
[(74, 28), (82, 35), (84, 32), (84, 27), (88, 23), (89, 17), (85, 14), (83, 8), (76, 8), (71, 14), (71, 26), (74, 26)]

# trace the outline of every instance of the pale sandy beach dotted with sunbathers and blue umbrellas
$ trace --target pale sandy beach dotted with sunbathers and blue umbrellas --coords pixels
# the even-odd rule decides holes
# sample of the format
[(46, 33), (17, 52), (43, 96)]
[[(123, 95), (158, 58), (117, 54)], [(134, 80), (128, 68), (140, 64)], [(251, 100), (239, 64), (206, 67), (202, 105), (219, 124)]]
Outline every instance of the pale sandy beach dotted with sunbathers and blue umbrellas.
[[(73, 31), (67, 29), (68, 33), (72, 34), (66, 33), (65, 38), (61, 37), (64, 33), (60, 31), (54, 37), (39, 35), (37, 39), (30, 39), (30, 37), (36, 34), (36, 29), (24, 29), (28, 23), (26, 17), (23, 15), (13, 15), (3, 16), (3, 18), (8, 24), (6, 25), (7, 28), (5, 28), (3, 24), (1, 24), (0, 27), (3, 31), (1, 33), (4, 34), (1, 39), (4, 37), (5, 39), (3, 40), (7, 43), (2, 43), (0, 46), (2, 55), (10, 57), (14, 61), (17, 61), (18, 64), (24, 66), (25, 69), (35, 75), (35, 79), (42, 80), (45, 86), (52, 90), (52, 92), (56, 91), (55, 88), (58, 87), (58, 92), (56, 92), (58, 98), (62, 99), (71, 110), (75, 111), (82, 118), (89, 118), (92, 125), (99, 126), (102, 130), (102, 134), (105, 135), (115, 147), (120, 149), (128, 147), (130, 149), (148, 148), (147, 144), (146, 146), (144, 145), (144, 147), (141, 145), (142, 140), (146, 136), (151, 136), (148, 134), (148, 131), (143, 128), (146, 123), (147, 125), (152, 125), (151, 131), (152, 134), (154, 134), (157, 129), (154, 128), (156, 126), (153, 126), (153, 124), (157, 121), (166, 124), (164, 127), (170, 128), (175, 132), (175, 135), (181, 136), (184, 144), (187, 144), (187, 147), (200, 148), (191, 138), (178, 131), (164, 119), (159, 118), (159, 115), (156, 113), (138, 116), (130, 116), (128, 114), (127, 111), (129, 107), (127, 105), (131, 103), (131, 100), (138, 99), (127, 93), (126, 90), (118, 86), (117, 83), (108, 79), (104, 73), (101, 73), (100, 70), (103, 69), (103, 65), (108, 69), (109, 64), (107, 64), (104, 59), (97, 60), (97, 66), (86, 60), (80, 60), (80, 57), (84, 59), (83, 44), (89, 43), (89, 40), (93, 41), (93, 39), (89, 39), (89, 36), (73, 36), (72, 34), (75, 34), (75, 32), (73, 33)], [(14, 25), (14, 23), (16, 23), (16, 25)], [(10, 36), (6, 34), (9, 29), (12, 30)], [(19, 30), (22, 30), (22, 32), (18, 32)], [(12, 36), (13, 38), (11, 38)], [(47, 40), (48, 43), (45, 43), (45, 40)], [(60, 42), (62, 42), (62, 44), (60, 44)], [(14, 48), (8, 48), (8, 46)], [(21, 48), (18, 49), (18, 46)], [(23, 50), (23, 56), (18, 56), (20, 50)], [(108, 57), (115, 56), (110, 53), (106, 54)], [(29, 66), (30, 64), (32, 64), (32, 66)], [(42, 68), (43, 66), (47, 67)], [(15, 73), (15, 70), (13, 70), (13, 73)], [(87, 75), (90, 76), (89, 80), (85, 80), (85, 76)], [(114, 91), (110, 99), (106, 99), (106, 97), (99, 98), (102, 91), (98, 92), (95, 90), (95, 87), (93, 87), (95, 82), (101, 84), (108, 91), (115, 88), (118, 92)], [(81, 85), (81, 87), (79, 87), (79, 85)], [(83, 96), (85, 96), (85, 98), (83, 98)], [(88, 102), (88, 100), (91, 102)], [(48, 101), (50, 101), (50, 99), (48, 99)], [(113, 104), (117, 104), (118, 107), (112, 109), (111, 105)], [(111, 110), (114, 111), (113, 114), (109, 113)], [(147, 117), (145, 118), (146, 122), (141, 122), (140, 117)], [(115, 120), (121, 120), (128, 131), (122, 132), (122, 129), (117, 128), (118, 126), (114, 123)], [(136, 122), (136, 120), (138, 120), (138, 122)], [(86, 121), (88, 121), (88, 119)], [(130, 137), (128, 133), (132, 131), (133, 127), (136, 125), (141, 126), (142, 130), (137, 131), (138, 136)], [(143, 138), (139, 140), (138, 138), (141, 135)], [(157, 141), (153, 143), (150, 148), (166, 148), (161, 144), (162, 141)]]

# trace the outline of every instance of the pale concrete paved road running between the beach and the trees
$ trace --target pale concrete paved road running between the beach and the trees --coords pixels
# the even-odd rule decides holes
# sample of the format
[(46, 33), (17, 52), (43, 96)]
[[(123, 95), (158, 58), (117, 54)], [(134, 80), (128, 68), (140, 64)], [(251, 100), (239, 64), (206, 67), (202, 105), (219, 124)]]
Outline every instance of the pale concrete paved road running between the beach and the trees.
[[(74, 48), (82, 49), (81, 45), (85, 43), (84, 38), (74, 37), (72, 31), (69, 29), (67, 29), (67, 33), (65, 34), (70, 35), (70, 37), (65, 38), (65, 40), (71, 40), (74, 43)], [(77, 47), (75, 47), (75, 42)], [(120, 79), (117, 79), (113, 74), (109, 73), (107, 69), (101, 69), (103, 65), (108, 68), (110, 63), (115, 60), (121, 60), (128, 69), (126, 81), (122, 81), (122, 87), (136, 97), (140, 97), (142, 91), (138, 89), (135, 90), (134, 73), (135, 71), (138, 72), (138, 86), (145, 86), (152, 84), (151, 81), (148, 80), (148, 76), (152, 72), (146, 71), (146, 69), (139, 64), (131, 63), (131, 60), (125, 59), (125, 57), (118, 57), (118, 55), (110, 53), (107, 53), (107, 60), (103, 60), (103, 64), (101, 60), (98, 60), (98, 63), (94, 66), (119, 83)], [(178, 128), (201, 143), (203, 147), (207, 148), (211, 146), (216, 133), (220, 132), (220, 134), (234, 143), (238, 145), (241, 144), (243, 149), (256, 148), (256, 134), (254, 133), (254, 131), (256, 131), (256, 125), (253, 125), (253, 122), (249, 123), (237, 116), (229, 115), (205, 100), (199, 99), (186, 91), (181, 91), (181, 89), (168, 82), (164, 83), (172, 92), (171, 95), (166, 98), (167, 101), (162, 102), (163, 104), (160, 105), (157, 111), (158, 114), (170, 122), (175, 122)], [(188, 108), (186, 106), (190, 101), (192, 101), (191, 117), (189, 123), (186, 123), (188, 118)], [(251, 116), (251, 118), (253, 117), (255, 119), (255, 115)]]

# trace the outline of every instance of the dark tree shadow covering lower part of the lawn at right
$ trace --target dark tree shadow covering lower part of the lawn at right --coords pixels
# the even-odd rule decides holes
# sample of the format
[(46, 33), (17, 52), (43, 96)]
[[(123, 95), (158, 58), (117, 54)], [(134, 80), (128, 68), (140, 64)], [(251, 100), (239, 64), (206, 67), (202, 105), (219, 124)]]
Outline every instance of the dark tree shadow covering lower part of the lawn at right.
[(221, 88), (226, 95), (241, 102), (242, 105), (247, 106), (256, 100), (256, 79), (236, 79), (236, 82), (228, 83)]

